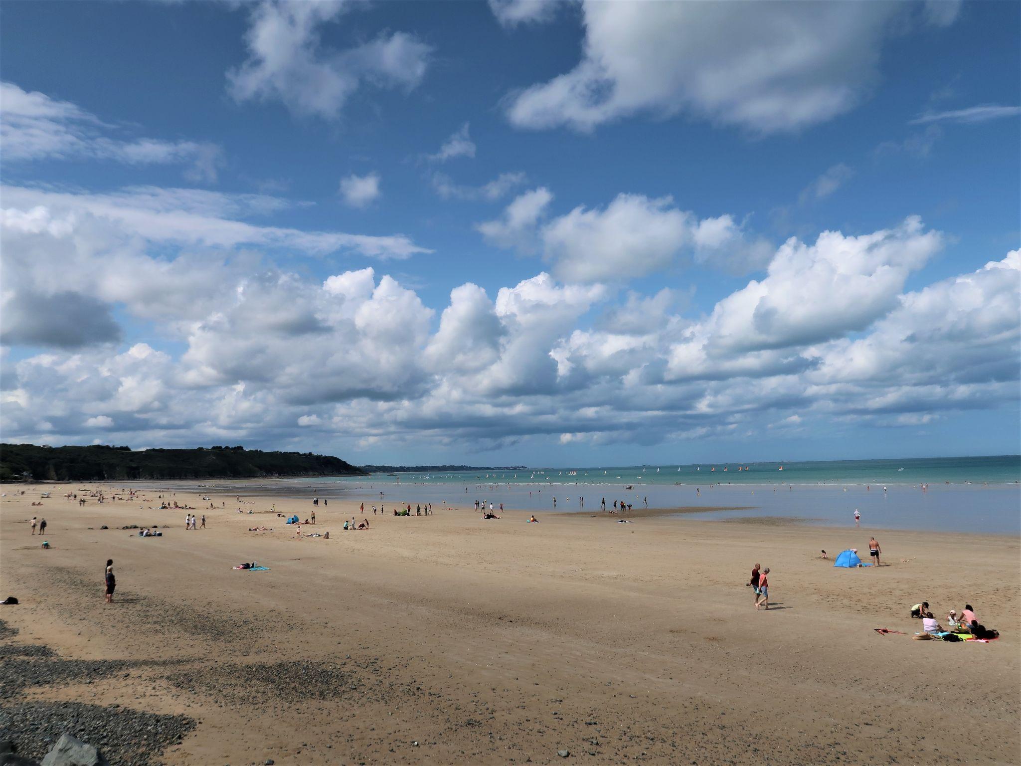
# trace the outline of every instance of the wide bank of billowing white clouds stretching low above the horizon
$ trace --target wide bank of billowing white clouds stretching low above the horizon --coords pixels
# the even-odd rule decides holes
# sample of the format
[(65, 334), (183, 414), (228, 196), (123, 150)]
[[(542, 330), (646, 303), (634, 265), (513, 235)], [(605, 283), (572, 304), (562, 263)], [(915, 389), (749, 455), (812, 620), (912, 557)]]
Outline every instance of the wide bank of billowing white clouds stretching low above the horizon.
[[(1021, 254), (906, 293), (941, 242), (915, 219), (791, 240), (762, 280), (689, 318), (683, 291), (622, 295), (545, 273), (495, 295), (464, 284), (434, 308), (374, 269), (318, 281), (266, 253), (168, 253), (162, 243), (153, 254), (116, 220), (83, 211), (6, 214), (5, 300), (50, 301), (0, 315), (4, 342), (29, 352), (0, 360), (9, 438), (338, 449), (410, 438), (464, 452), (816, 420), (916, 428), (1016, 400)], [(721, 234), (708, 226), (702, 236)], [(88, 310), (64, 310), (81, 300), (68, 292)], [(183, 350), (125, 347), (101, 321), (96, 331), (113, 304)], [(18, 335), (33, 323), (52, 332)], [(70, 324), (82, 337), (61, 334)], [(76, 352), (79, 343), (91, 345)]]

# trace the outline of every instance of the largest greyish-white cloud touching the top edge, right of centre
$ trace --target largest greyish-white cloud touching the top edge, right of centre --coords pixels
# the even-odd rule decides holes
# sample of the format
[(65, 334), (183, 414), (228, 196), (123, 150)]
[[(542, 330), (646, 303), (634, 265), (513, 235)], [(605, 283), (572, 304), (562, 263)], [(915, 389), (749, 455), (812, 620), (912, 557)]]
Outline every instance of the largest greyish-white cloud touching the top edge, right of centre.
[(684, 110), (756, 133), (803, 129), (862, 99), (906, 6), (584, 0), (582, 7), (581, 61), (515, 94), (513, 124), (589, 131), (636, 112)]

